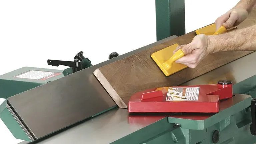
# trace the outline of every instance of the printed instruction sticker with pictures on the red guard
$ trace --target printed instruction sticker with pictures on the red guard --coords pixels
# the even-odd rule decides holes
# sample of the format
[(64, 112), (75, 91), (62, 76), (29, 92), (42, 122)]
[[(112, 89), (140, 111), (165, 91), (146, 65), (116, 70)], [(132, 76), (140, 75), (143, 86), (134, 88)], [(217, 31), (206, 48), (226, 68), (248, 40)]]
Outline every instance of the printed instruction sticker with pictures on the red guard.
[(166, 101), (197, 101), (199, 87), (172, 88), (169, 87)]

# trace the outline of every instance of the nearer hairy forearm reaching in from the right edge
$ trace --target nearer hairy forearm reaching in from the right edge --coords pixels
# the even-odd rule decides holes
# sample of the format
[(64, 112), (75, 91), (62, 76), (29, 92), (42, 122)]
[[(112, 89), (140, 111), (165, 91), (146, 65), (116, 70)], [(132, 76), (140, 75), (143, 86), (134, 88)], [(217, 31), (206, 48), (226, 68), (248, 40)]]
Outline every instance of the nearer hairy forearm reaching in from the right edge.
[(208, 36), (209, 53), (219, 51), (256, 51), (256, 25), (221, 35)]

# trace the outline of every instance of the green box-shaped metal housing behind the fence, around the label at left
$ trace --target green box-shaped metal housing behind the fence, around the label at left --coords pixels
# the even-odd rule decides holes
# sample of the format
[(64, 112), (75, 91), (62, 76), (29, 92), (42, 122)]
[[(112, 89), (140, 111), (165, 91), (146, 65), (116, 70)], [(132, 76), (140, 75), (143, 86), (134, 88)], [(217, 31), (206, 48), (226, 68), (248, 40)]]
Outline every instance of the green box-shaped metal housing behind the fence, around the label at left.
[(15, 76), (28, 72), (30, 70), (38, 71), (49, 71), (62, 73), (61, 70), (53, 69), (43, 69), (43, 68), (34, 68), (34, 67), (23, 67), (12, 72), (3, 74), (0, 76), (0, 98), (7, 99), (8, 97), (14, 96), (16, 94), (22, 93), (24, 91), (30, 90), (32, 88), (38, 87), (50, 81), (54, 81), (63, 77), (63, 74), (49, 78), (48, 80), (35, 80), (35, 79), (25, 79), (25, 78), (16, 78)]

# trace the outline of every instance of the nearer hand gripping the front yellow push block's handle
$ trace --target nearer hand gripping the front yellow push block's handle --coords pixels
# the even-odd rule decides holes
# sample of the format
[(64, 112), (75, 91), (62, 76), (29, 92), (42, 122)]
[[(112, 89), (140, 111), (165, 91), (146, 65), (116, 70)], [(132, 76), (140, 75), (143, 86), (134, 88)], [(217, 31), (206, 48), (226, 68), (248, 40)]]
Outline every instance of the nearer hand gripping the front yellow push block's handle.
[(175, 63), (184, 64), (190, 68), (195, 68), (202, 59), (211, 53), (208, 47), (208, 37), (204, 34), (197, 35), (192, 42), (187, 45), (181, 45), (173, 51), (173, 54), (181, 49), (185, 54), (183, 57), (177, 59)]

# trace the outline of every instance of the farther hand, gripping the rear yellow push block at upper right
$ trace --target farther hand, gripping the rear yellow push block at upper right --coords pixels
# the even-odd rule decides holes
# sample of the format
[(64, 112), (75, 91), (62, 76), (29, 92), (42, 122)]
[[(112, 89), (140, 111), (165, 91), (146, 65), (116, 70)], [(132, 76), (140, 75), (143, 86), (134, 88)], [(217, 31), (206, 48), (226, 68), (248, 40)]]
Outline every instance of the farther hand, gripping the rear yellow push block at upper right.
[(247, 18), (247, 16), (248, 16), (248, 12), (246, 9), (242, 9), (242, 8), (231, 9), (215, 20), (216, 31), (221, 26), (224, 26), (226, 29), (230, 29), (233, 26), (237, 26), (241, 22), (243, 22)]

